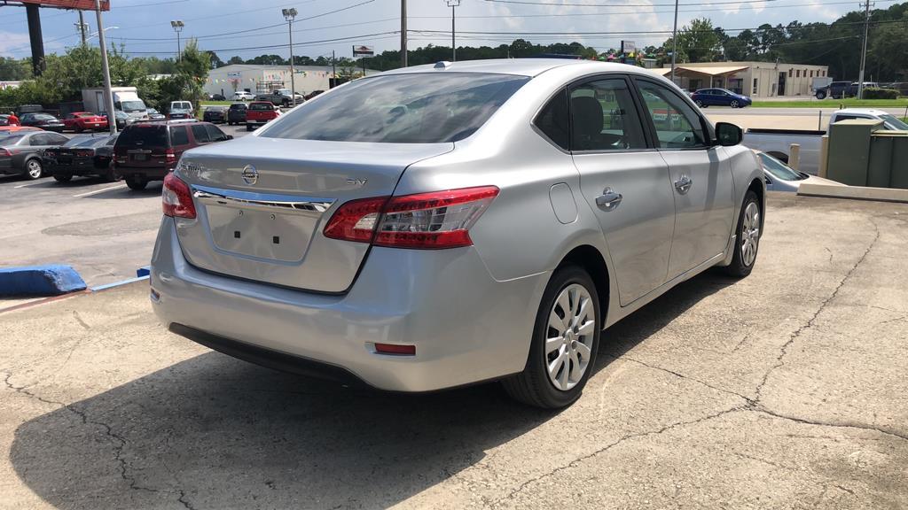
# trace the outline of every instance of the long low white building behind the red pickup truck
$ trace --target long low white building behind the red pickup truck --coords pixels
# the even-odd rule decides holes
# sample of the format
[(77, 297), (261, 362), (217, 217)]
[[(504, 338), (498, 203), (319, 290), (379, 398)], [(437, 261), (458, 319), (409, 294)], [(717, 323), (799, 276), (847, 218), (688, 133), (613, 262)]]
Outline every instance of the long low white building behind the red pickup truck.
[[(341, 72), (341, 67), (337, 68)], [(361, 69), (354, 69), (354, 73), (362, 73)], [(313, 91), (326, 91), (333, 76), (330, 65), (294, 65), (293, 84), (296, 92), (303, 95)], [(378, 71), (368, 69), (366, 74), (376, 74)], [(206, 93), (220, 93), (228, 99), (237, 91), (250, 93), (270, 93), (275, 89), (289, 89), (289, 65), (254, 65), (230, 64), (212, 69), (208, 72), (205, 81)]]

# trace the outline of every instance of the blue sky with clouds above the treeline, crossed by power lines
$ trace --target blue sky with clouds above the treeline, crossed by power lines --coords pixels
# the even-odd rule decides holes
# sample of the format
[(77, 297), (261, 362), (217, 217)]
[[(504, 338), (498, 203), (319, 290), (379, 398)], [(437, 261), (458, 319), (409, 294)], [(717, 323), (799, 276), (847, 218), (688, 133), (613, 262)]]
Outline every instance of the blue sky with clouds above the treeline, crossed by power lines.
[[(874, 5), (884, 9), (893, 0), (874, 0)], [(400, 0), (111, 0), (111, 10), (104, 13), (104, 26), (110, 28), (104, 34), (124, 44), (127, 54), (174, 56), (177, 41), (170, 22), (179, 19), (185, 25), (183, 41), (199, 37), (200, 47), (223, 61), (233, 55), (287, 57), (288, 26), (281, 9), (289, 7), (299, 13), (293, 23), (294, 54), (315, 58), (333, 50), (339, 57), (351, 56), (353, 44), (371, 45), (377, 52), (400, 49)], [(858, 0), (680, 0), (678, 26), (709, 17), (734, 35), (734, 29), (765, 23), (831, 22), (857, 8)], [(41, 15), (46, 54), (64, 53), (79, 42), (76, 12), (44, 8)], [(408, 47), (449, 46), (450, 15), (446, 0), (409, 0)], [(577, 41), (601, 52), (619, 47), (622, 39), (638, 47), (665, 41), (674, 1), (461, 0), (456, 15), (458, 45), (497, 46), (522, 37), (540, 44)], [(84, 19), (95, 33), (94, 12), (84, 13)], [(92, 42), (97, 44), (96, 36)], [(0, 5), (0, 55), (30, 54), (25, 8)]]

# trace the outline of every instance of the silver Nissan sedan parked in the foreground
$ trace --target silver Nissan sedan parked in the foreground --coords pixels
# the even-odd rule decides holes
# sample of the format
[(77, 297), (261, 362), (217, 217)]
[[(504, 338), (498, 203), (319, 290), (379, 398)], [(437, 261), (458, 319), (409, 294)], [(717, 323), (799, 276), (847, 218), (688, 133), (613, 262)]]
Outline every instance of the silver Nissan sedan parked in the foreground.
[(185, 152), (151, 299), (237, 358), (563, 407), (601, 331), (713, 266), (750, 273), (763, 169), (650, 72), (439, 63), (356, 80)]

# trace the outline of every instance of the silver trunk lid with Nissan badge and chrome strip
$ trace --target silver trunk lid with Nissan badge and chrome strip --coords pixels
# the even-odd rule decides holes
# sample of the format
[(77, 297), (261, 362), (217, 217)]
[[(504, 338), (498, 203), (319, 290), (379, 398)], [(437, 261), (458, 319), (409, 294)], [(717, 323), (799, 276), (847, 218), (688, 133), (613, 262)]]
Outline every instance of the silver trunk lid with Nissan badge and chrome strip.
[(321, 142), (247, 136), (193, 149), (177, 175), (196, 218), (176, 219), (202, 270), (320, 292), (350, 288), (369, 244), (322, 234), (341, 204), (390, 195), (412, 163), (452, 143)]

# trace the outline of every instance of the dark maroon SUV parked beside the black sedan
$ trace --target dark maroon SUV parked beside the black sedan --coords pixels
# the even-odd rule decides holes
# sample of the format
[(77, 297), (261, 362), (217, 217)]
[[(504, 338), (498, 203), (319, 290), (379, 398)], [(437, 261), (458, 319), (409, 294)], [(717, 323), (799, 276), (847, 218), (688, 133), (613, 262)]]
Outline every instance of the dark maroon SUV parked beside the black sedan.
[(161, 181), (173, 171), (183, 152), (232, 138), (216, 125), (199, 121), (133, 123), (116, 140), (114, 169), (131, 190), (144, 190), (148, 181)]

